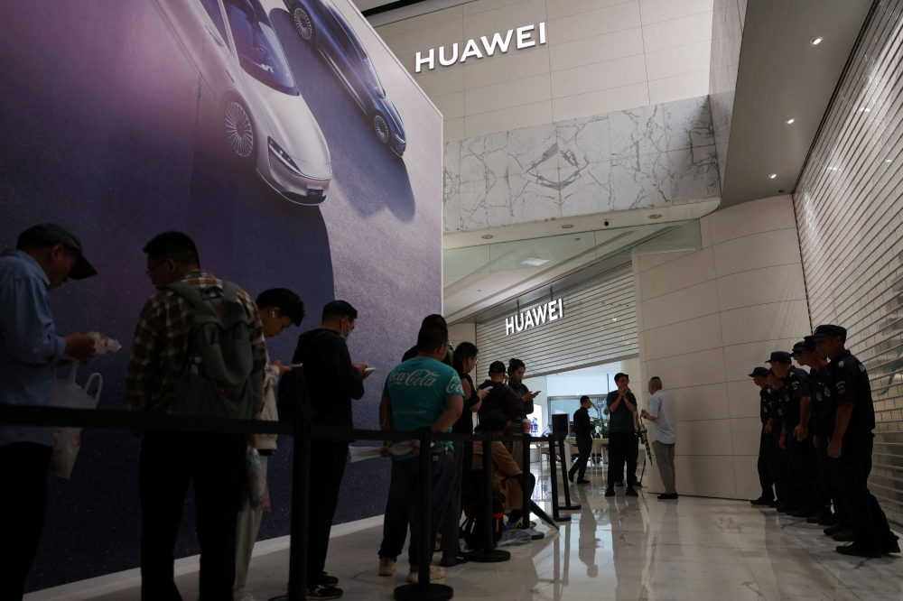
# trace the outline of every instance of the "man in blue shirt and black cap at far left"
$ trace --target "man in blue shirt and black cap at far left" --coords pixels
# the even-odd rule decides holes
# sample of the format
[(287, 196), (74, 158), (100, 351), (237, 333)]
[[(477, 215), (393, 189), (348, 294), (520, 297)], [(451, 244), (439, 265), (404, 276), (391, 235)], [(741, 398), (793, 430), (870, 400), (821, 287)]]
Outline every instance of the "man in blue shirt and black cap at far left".
[[(47, 292), (95, 275), (78, 236), (42, 224), (0, 252), (0, 403), (49, 406), (57, 365), (94, 356), (94, 339), (58, 336)], [(53, 429), (0, 426), (0, 597), (21, 599), (47, 511)]]

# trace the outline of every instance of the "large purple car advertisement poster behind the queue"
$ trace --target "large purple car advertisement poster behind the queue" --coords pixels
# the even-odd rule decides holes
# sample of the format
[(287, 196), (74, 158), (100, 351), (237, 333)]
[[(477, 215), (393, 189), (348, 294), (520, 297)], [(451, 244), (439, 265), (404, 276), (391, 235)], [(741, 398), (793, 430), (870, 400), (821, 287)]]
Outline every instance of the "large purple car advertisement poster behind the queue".
[[(180, 230), (252, 296), (301, 295), (307, 318), (268, 340), (273, 360), (326, 302), (354, 305), (352, 359), (377, 368), (355, 426), (378, 428), (383, 379), (442, 308), (442, 116), (349, 0), (8, 2), (0, 57), (0, 245), (42, 222), (81, 237), (98, 276), (51, 302), (58, 330), (124, 347), (82, 368), (103, 375), (100, 408), (126, 408), (154, 293), (142, 247)], [(139, 439), (81, 444), (71, 479), (51, 478), (27, 590), (139, 565)], [(291, 451), (282, 438), (270, 459), (261, 540), (289, 532)], [(349, 466), (336, 522), (383, 513), (387, 470)], [(189, 499), (177, 557), (198, 552)]]

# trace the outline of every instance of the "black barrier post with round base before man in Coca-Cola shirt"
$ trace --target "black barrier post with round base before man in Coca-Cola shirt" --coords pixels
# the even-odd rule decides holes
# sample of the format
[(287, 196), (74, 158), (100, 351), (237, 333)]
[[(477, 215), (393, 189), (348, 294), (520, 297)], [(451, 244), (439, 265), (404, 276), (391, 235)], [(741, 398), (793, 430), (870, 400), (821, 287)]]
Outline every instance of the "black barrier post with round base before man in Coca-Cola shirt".
[(417, 584), (396, 587), (397, 601), (448, 601), (454, 596), (452, 587), (430, 582), (430, 568), (433, 565), (432, 536), (433, 524), (433, 437), (429, 428), (421, 428), (420, 434), (420, 540), (411, 544), (420, 545)]

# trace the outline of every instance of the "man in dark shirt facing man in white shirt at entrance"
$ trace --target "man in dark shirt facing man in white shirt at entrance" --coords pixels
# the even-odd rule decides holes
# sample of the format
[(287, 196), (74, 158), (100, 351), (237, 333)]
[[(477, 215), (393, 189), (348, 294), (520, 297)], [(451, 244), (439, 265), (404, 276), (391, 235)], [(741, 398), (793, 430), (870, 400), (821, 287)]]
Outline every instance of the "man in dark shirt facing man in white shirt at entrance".
[[(637, 430), (633, 423), (634, 412), (637, 411), (637, 397), (630, 392), (628, 374), (615, 374), (617, 390), (609, 393), (605, 399), (609, 408), (609, 482), (605, 496), (615, 495), (615, 483), (624, 479), (624, 463), (627, 473), (635, 477), (637, 473)], [(627, 483), (625, 495), (638, 496), (633, 483)]]

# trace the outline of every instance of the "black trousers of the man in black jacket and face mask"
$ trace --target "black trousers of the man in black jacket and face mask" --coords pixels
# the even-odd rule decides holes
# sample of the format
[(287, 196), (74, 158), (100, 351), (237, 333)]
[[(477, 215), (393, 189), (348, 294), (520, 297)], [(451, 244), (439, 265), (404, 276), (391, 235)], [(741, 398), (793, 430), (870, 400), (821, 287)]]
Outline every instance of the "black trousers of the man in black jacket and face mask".
[(311, 445), (311, 500), (307, 522), (307, 587), (313, 588), (326, 567), (332, 519), (339, 505), (341, 479), (348, 466), (348, 443), (316, 440)]

